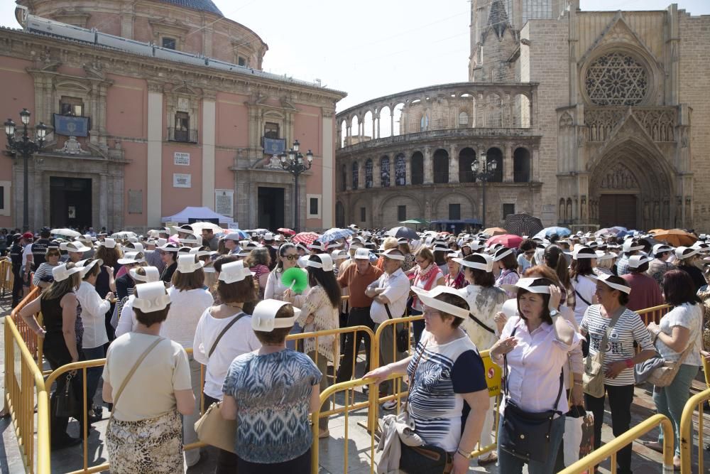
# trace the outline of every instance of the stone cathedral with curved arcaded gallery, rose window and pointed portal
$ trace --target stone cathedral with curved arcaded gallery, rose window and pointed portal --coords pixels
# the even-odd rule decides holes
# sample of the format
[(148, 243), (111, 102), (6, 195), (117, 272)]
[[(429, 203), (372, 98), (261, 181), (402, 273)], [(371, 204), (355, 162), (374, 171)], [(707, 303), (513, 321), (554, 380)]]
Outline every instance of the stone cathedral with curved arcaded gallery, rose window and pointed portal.
[[(708, 44), (710, 16), (677, 4), (474, 0), (469, 82), (337, 115), (336, 221), (706, 230)], [(496, 163), (485, 183), (474, 160)]]

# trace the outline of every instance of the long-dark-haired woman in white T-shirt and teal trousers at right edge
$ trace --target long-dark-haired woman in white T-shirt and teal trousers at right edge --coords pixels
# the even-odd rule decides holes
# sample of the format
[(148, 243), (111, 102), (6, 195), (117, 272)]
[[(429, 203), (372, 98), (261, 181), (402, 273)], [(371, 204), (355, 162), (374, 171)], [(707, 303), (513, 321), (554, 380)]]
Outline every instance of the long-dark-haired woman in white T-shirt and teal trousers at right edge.
[[(690, 276), (682, 270), (667, 271), (663, 276), (665, 301), (673, 308), (661, 318), (660, 324), (649, 323), (648, 332), (654, 339), (660, 356), (677, 362), (680, 368), (673, 382), (667, 387), (653, 388), (653, 402), (658, 413), (673, 422), (675, 458), (673, 464), (680, 467), (680, 441), (678, 438), (680, 418), (689, 398), (690, 385), (702, 365), (702, 323), (704, 307), (694, 293)], [(645, 442), (655, 451), (663, 452), (663, 432), (658, 441)]]

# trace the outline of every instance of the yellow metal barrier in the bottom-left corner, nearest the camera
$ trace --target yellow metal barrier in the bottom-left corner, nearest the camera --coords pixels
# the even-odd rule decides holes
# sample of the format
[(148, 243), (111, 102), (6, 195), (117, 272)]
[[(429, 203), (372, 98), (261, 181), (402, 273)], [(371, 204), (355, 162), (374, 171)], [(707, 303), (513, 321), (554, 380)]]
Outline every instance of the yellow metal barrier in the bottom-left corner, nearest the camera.
[[(19, 354), (16, 353), (19, 352)], [(19, 361), (19, 379), (16, 362)], [(5, 408), (29, 473), (50, 473), (49, 397), (42, 372), (12, 318), (5, 318)], [(35, 450), (35, 394), (37, 446)], [(36, 455), (36, 468), (35, 468)]]

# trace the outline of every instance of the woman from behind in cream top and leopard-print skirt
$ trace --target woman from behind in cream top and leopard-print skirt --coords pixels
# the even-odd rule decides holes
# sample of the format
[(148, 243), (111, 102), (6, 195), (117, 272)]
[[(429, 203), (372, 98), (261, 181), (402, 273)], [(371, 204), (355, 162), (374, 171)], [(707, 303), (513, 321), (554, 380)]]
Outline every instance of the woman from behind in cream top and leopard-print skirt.
[[(187, 353), (160, 336), (170, 296), (160, 281), (136, 286), (138, 328), (114, 340), (104, 366), (112, 403), (106, 445), (113, 473), (182, 473), (182, 421), (195, 411)], [(114, 391), (115, 390), (115, 391)]]

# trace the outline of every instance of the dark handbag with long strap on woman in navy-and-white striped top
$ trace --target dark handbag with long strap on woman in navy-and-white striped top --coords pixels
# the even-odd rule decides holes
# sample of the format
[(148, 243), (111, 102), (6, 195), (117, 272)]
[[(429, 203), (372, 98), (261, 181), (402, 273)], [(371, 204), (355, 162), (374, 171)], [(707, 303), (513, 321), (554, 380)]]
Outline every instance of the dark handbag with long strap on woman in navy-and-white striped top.
[[(422, 351), (417, 356), (417, 361), (412, 371), (410, 385), (414, 383), (414, 377), (419, 367), (419, 361), (424, 354), (427, 343), (424, 343)], [(411, 390), (410, 390), (411, 394)], [(397, 416), (397, 424), (404, 424), (406, 428), (398, 430), (401, 441), (402, 454), (400, 456), (400, 469), (408, 474), (448, 474), (454, 467), (454, 456), (433, 444), (423, 444), (422, 438), (415, 432), (415, 422), (409, 416), (409, 395), (403, 406), (402, 413)]]

